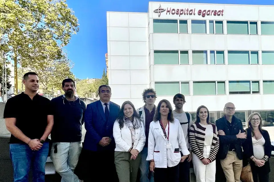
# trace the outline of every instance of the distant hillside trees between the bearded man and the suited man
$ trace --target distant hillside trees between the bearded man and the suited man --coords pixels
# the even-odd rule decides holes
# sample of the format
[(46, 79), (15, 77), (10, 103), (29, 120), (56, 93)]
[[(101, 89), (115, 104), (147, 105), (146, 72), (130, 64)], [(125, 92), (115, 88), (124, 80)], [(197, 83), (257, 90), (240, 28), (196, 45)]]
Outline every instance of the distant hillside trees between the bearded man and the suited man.
[(84, 79), (76, 82), (76, 91), (81, 98), (92, 98), (94, 94), (98, 97), (98, 88), (100, 85), (108, 85), (105, 71), (101, 79)]

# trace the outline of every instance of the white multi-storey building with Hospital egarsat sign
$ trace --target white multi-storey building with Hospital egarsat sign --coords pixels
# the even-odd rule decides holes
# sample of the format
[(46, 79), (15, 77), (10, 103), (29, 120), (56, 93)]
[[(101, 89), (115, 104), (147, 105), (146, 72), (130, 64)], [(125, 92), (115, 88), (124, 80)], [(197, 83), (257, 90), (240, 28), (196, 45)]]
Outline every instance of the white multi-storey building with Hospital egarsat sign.
[[(274, 6), (150, 2), (148, 13), (107, 12), (112, 101), (141, 107), (142, 91), (186, 97), (211, 122), (233, 102), (235, 116), (251, 112), (274, 126)], [(172, 103), (173, 104), (173, 103)]]

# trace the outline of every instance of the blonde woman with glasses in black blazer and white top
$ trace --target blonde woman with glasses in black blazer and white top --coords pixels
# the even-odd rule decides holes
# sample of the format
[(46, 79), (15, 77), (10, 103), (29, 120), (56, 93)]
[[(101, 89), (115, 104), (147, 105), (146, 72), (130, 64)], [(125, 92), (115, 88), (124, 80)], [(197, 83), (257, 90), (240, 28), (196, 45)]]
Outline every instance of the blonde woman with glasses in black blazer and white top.
[[(244, 163), (250, 161), (254, 182), (269, 181), (269, 158), (272, 146), (269, 134), (262, 128), (262, 118), (257, 112), (248, 117), (248, 128), (246, 129), (246, 140), (243, 143)], [(244, 165), (244, 166), (245, 166)]]

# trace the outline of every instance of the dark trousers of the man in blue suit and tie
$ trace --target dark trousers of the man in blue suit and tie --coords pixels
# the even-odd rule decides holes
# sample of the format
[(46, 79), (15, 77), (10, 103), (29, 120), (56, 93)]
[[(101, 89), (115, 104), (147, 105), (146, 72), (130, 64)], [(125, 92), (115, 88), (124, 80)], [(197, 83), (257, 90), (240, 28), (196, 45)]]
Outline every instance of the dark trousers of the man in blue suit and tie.
[(112, 182), (119, 182), (114, 164), (114, 150), (89, 151), (82, 149), (80, 160), (83, 166), (79, 179), (83, 179), (85, 182), (92, 182), (99, 177), (102, 181), (111, 179)]

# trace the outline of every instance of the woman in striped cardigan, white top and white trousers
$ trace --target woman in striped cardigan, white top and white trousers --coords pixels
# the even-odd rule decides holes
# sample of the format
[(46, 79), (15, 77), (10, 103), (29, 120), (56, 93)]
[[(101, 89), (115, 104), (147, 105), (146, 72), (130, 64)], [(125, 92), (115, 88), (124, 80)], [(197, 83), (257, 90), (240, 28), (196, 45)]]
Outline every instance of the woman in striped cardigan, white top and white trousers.
[(196, 112), (196, 122), (189, 130), (192, 161), (196, 182), (215, 182), (216, 161), (219, 149), (217, 127), (209, 122), (209, 111), (200, 106)]

